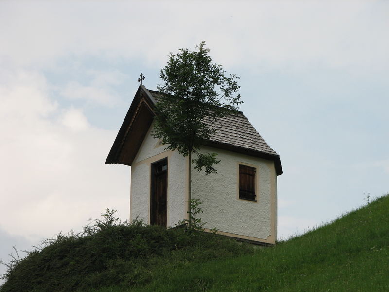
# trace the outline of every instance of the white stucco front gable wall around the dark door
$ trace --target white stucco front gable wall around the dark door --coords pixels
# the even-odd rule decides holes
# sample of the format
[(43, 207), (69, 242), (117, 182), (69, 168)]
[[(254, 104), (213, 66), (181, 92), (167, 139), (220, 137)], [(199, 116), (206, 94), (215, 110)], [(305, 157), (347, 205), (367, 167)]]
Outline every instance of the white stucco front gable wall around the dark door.
[(164, 150), (166, 146), (150, 135), (151, 128), (131, 166), (130, 220), (139, 216), (150, 222), (150, 166), (167, 157), (167, 226), (173, 227), (186, 215), (186, 159), (177, 151)]

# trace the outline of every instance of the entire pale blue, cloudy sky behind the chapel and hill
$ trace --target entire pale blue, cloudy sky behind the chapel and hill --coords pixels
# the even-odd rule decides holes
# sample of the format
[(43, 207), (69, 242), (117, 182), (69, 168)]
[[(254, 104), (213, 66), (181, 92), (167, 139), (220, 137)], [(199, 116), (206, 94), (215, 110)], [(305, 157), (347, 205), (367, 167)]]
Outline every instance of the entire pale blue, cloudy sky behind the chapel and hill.
[(0, 1), (0, 258), (128, 219), (104, 162), (139, 74), (201, 41), (281, 157), (279, 239), (388, 193), (388, 31), (388, 1)]

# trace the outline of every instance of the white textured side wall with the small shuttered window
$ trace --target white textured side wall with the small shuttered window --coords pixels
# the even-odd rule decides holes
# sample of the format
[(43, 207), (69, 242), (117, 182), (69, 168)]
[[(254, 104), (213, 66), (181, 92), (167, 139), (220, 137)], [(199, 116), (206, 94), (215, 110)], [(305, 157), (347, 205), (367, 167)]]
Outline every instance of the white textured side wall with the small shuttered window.
[[(207, 222), (204, 227), (261, 239), (276, 238), (276, 198), (271, 197), (276, 192), (274, 163), (209, 147), (203, 147), (202, 152), (216, 152), (217, 159), (221, 160), (220, 164), (215, 165), (216, 174), (205, 176), (203, 172), (192, 170), (192, 196), (203, 201), (200, 217)], [(242, 163), (257, 168), (257, 202), (239, 199), (238, 173), (239, 164)]]

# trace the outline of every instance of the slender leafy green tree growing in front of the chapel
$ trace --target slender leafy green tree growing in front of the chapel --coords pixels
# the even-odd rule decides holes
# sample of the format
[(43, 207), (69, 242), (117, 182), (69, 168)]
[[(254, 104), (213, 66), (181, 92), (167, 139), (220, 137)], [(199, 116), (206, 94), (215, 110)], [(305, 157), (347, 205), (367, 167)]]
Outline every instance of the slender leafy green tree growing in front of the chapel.
[[(178, 150), (189, 159), (188, 213), (189, 228), (192, 228), (192, 164), (205, 175), (216, 173), (214, 164), (220, 163), (216, 153), (200, 153), (200, 146), (211, 137), (214, 129), (208, 125), (219, 117), (237, 110), (240, 88), (239, 77), (226, 72), (221, 65), (212, 63), (205, 42), (195, 51), (179, 49), (177, 55), (170, 53), (167, 66), (159, 77), (164, 82), (158, 90), (165, 93), (156, 104), (153, 137), (169, 145), (166, 149)], [(192, 154), (197, 157), (192, 159)]]

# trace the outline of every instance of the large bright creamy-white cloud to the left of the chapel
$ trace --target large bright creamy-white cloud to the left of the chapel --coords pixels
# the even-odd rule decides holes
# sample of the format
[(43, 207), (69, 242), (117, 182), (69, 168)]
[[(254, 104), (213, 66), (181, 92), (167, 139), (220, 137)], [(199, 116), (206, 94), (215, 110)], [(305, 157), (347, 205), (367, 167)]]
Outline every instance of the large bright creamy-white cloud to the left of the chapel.
[(106, 208), (128, 218), (129, 169), (104, 164), (116, 132), (91, 127), (81, 109), (60, 108), (39, 73), (1, 77), (3, 228), (36, 240), (80, 229)]

